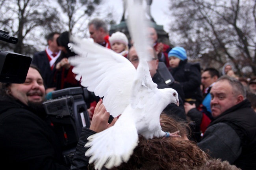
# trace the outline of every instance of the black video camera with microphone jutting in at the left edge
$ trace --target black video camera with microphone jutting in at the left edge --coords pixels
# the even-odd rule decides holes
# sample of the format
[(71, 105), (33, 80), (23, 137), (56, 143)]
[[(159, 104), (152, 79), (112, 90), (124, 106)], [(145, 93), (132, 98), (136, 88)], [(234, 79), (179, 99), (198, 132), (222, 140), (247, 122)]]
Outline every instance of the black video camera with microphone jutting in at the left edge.
[[(0, 40), (17, 44), (18, 38), (0, 29)], [(0, 82), (24, 83), (32, 58), (0, 49)]]

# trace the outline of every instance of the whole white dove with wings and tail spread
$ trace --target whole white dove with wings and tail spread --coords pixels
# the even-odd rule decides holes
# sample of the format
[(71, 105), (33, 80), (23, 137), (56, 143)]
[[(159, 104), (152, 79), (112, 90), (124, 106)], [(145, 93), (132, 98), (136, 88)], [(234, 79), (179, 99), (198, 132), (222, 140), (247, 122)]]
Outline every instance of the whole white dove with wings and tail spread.
[[(130, 1), (130, 0), (129, 0)], [(158, 89), (152, 81), (147, 64), (147, 28), (143, 8), (128, 1), (129, 31), (139, 57), (137, 70), (132, 63), (111, 49), (91, 40), (72, 37), (71, 48), (78, 55), (70, 57), (76, 79), (95, 95), (103, 98), (106, 110), (113, 116), (121, 114), (114, 126), (88, 137), (85, 153), (95, 169), (112, 168), (127, 162), (138, 143), (145, 138), (165, 137), (160, 114), (170, 103), (179, 105), (178, 93), (171, 88)], [(130, 3), (130, 4), (129, 4)], [(146, 57), (147, 56), (147, 57)]]

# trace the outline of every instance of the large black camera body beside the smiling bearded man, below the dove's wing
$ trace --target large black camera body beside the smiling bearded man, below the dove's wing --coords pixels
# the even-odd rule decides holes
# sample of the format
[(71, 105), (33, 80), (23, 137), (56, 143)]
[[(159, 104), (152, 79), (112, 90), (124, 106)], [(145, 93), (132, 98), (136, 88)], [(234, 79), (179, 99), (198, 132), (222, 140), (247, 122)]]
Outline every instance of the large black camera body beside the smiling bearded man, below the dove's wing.
[(43, 104), (60, 140), (62, 154), (69, 165), (76, 151), (82, 127), (90, 127), (83, 89), (74, 87), (52, 91), (52, 99)]

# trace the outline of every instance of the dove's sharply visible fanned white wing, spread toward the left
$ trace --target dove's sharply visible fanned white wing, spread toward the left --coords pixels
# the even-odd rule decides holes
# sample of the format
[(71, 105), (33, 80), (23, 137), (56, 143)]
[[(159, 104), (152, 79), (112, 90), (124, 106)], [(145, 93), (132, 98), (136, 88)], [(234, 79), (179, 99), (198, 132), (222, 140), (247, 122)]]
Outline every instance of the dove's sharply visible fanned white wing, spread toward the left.
[(96, 96), (104, 96), (106, 110), (117, 117), (130, 103), (134, 66), (122, 55), (91, 40), (73, 37), (72, 41), (71, 48), (78, 56), (70, 57), (69, 62), (74, 66), (76, 80), (82, 77), (82, 86)]

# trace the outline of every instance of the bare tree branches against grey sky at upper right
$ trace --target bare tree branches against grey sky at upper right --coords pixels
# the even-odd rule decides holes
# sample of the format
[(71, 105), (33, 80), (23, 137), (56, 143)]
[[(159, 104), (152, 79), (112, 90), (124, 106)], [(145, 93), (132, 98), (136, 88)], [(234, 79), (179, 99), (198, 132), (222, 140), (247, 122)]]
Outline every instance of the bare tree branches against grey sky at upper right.
[(171, 34), (181, 36), (172, 43), (204, 68), (232, 62), (238, 75), (256, 75), (255, 8), (254, 0), (171, 0)]

